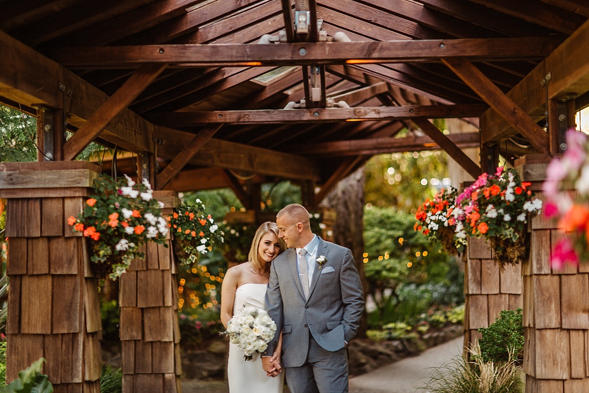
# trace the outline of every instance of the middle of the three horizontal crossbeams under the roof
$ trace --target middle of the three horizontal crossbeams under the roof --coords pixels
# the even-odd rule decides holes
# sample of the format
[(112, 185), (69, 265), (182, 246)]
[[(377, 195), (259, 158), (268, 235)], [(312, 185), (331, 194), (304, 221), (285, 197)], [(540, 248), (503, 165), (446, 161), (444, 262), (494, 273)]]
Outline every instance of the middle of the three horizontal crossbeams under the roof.
[(186, 127), (207, 123), (333, 123), (345, 120), (402, 120), (414, 117), (473, 117), (481, 114), (486, 108), (488, 108), (486, 104), (408, 105), (405, 107), (168, 112), (149, 114), (145, 117), (161, 126)]

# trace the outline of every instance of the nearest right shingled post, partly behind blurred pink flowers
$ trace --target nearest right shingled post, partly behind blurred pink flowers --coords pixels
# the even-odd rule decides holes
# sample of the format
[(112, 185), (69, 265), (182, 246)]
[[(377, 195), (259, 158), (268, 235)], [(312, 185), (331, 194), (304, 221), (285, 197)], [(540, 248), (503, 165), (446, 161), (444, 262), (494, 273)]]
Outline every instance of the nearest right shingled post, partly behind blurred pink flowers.
[[(550, 156), (524, 156), (516, 167), (540, 190)], [(545, 200), (544, 194), (537, 197)], [(527, 393), (589, 391), (589, 264), (550, 267), (551, 247), (562, 233), (556, 220), (531, 220), (530, 258), (524, 276), (524, 372)]]

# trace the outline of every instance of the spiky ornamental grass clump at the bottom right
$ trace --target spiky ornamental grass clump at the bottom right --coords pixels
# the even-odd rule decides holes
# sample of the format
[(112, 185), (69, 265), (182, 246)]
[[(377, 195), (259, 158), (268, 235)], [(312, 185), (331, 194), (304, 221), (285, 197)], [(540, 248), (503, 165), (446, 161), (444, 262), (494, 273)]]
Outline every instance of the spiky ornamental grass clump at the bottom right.
[(522, 382), (513, 358), (494, 364), (485, 362), (478, 346), (471, 349), (472, 362), (464, 356), (435, 368), (429, 381), (418, 389), (428, 393), (520, 393)]

